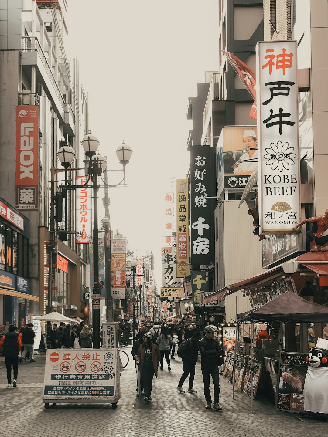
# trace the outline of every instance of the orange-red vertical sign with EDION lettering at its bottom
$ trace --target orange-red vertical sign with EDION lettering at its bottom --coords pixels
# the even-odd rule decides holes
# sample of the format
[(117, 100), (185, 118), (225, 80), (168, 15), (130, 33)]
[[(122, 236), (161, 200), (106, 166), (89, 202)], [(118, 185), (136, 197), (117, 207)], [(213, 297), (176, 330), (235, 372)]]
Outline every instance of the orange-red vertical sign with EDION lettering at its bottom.
[(111, 291), (113, 299), (125, 299), (126, 239), (112, 239)]

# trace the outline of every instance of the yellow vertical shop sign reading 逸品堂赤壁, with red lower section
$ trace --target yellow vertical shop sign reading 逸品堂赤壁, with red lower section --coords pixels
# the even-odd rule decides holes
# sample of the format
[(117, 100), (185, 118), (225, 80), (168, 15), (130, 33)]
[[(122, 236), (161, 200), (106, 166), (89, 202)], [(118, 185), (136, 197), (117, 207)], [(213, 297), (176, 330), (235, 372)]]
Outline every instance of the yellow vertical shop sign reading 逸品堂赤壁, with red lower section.
[(177, 277), (189, 275), (188, 179), (177, 180)]

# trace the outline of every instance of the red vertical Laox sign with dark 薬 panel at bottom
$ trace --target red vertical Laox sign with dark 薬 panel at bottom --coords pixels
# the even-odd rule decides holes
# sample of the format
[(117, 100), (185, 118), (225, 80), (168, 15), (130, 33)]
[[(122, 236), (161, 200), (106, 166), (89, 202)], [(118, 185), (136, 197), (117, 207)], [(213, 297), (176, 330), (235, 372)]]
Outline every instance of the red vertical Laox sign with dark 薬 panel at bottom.
[(38, 210), (38, 106), (16, 107), (16, 208)]

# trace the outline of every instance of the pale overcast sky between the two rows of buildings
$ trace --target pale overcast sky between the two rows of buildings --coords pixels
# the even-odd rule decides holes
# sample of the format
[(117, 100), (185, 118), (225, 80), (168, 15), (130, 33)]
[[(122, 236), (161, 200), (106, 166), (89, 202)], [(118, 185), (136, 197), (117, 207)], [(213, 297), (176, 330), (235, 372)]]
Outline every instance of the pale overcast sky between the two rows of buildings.
[[(108, 168), (120, 167), (123, 139), (133, 149), (129, 187), (110, 189), (112, 229), (138, 256), (153, 251), (161, 285), (163, 193), (188, 171), (188, 97), (205, 71), (218, 69), (218, 0), (69, 0), (66, 18), (67, 55), (80, 61), (89, 127)], [(109, 173), (109, 183), (120, 176)]]

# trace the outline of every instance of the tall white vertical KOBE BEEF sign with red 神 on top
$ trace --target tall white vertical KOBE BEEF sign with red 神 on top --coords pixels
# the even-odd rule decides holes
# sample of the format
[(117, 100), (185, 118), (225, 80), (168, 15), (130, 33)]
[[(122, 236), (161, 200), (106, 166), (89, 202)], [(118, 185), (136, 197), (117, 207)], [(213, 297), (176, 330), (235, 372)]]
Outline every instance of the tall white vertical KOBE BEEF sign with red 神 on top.
[(259, 208), (262, 233), (293, 233), (300, 217), (296, 41), (258, 42)]

